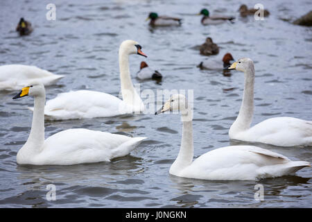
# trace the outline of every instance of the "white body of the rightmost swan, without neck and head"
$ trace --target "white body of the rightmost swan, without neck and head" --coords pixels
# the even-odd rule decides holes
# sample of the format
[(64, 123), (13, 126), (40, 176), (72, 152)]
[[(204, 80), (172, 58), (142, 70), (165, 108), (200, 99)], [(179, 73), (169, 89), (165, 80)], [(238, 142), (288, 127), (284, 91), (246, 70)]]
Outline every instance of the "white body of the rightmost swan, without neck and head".
[(229, 130), (229, 138), (274, 146), (312, 146), (312, 121), (293, 117), (266, 119), (247, 130)]

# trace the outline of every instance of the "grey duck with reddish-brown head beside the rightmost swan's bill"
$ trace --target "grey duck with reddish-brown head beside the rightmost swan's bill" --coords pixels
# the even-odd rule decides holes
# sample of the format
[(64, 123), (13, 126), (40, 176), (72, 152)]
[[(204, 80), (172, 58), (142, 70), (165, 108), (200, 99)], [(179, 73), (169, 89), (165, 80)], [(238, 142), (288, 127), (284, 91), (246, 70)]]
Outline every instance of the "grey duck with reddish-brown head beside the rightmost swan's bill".
[(225, 67), (231, 65), (230, 61), (234, 61), (231, 53), (225, 53), (222, 60), (209, 59), (200, 62), (198, 67), (200, 69), (212, 69), (212, 70), (223, 70)]

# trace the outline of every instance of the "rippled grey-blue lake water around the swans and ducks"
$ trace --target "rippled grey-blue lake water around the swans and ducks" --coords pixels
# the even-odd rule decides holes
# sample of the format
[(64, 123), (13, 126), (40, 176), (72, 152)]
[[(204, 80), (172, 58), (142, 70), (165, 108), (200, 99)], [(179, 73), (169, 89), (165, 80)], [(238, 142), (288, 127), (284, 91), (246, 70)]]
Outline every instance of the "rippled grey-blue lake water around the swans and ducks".
[[(248, 1), (252, 7), (259, 1)], [(66, 77), (46, 87), (47, 99), (71, 89), (119, 94), (119, 44), (136, 40), (146, 61), (164, 76), (162, 82), (139, 81), (142, 60), (131, 56), (134, 83), (144, 89), (194, 89), (194, 155), (230, 144), (229, 126), (236, 118), (243, 93), (243, 74), (200, 71), (205, 57), (194, 46), (210, 36), (220, 46), (219, 57), (254, 60), (255, 113), (253, 123), (270, 117), (312, 119), (312, 29), (286, 20), (304, 15), (311, 1), (261, 1), (271, 15), (264, 21), (239, 18), (243, 1), (53, 1), (56, 21), (46, 20), (51, 1), (1, 1), (0, 65), (37, 65)], [(229, 7), (230, 6), (230, 7)], [(234, 24), (201, 26), (195, 14), (235, 15)], [(144, 22), (151, 10), (183, 17), (177, 28), (151, 29)], [(20, 17), (34, 32), (18, 37)], [(195, 47), (196, 48), (196, 47)], [(227, 90), (229, 89), (229, 90)], [(46, 122), (46, 137), (68, 128), (89, 128), (148, 137), (135, 151), (112, 162), (69, 167), (21, 167), (17, 151), (26, 142), (33, 99), (12, 101), (16, 92), (0, 92), (0, 206), (1, 207), (312, 207), (311, 168), (296, 176), (261, 181), (204, 181), (168, 174), (180, 148), (180, 116), (163, 114)], [(263, 146), (291, 160), (311, 162), (311, 147)], [(254, 189), (264, 187), (264, 200)], [(56, 186), (55, 201), (46, 200), (46, 185)]]

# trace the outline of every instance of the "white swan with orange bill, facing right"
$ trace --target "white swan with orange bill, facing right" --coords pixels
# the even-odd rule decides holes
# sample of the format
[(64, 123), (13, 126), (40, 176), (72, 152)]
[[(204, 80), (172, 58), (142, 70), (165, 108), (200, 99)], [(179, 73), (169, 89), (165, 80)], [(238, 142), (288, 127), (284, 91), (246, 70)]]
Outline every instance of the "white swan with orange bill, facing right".
[[(119, 70), (123, 100), (104, 92), (78, 90), (58, 94), (46, 102), (46, 119), (89, 119), (114, 117), (121, 114), (144, 111), (144, 103), (132, 84), (129, 55), (146, 56), (141, 46), (133, 40), (125, 40), (119, 47)], [(33, 108), (29, 108), (33, 110)]]

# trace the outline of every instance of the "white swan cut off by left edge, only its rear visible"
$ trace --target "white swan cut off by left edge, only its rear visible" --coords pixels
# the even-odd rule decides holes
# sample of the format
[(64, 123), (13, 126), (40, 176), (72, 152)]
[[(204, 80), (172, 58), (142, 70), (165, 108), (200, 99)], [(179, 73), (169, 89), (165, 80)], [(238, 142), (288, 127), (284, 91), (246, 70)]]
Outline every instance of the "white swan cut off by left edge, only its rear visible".
[(19, 90), (32, 80), (40, 80), (44, 85), (51, 85), (64, 76), (29, 65), (1, 65), (0, 90)]

